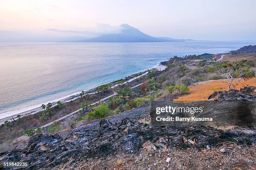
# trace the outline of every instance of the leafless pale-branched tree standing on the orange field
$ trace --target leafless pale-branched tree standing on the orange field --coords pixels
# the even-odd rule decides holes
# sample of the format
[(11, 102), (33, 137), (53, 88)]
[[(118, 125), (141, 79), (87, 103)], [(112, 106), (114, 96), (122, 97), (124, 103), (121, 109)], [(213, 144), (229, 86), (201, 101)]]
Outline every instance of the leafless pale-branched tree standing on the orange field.
[(220, 73), (222, 77), (228, 79), (228, 90), (231, 89), (233, 80), (240, 79), (247, 73), (253, 72), (253, 70), (244, 70), (242, 69), (241, 64), (234, 63), (233, 65), (229, 64), (228, 67), (222, 67)]

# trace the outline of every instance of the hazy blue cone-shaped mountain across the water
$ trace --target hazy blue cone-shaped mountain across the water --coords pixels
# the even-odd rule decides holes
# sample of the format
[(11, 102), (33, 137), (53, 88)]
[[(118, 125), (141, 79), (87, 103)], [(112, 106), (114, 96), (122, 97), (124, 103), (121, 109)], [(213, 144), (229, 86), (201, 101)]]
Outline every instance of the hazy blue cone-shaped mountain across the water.
[[(172, 38), (159, 38), (147, 35), (137, 28), (131, 27), (128, 24), (120, 25), (122, 27), (120, 33), (106, 34), (99, 37), (89, 38), (76, 42), (168, 42), (178, 41), (178, 39)], [(179, 40), (180, 41), (180, 40)]]

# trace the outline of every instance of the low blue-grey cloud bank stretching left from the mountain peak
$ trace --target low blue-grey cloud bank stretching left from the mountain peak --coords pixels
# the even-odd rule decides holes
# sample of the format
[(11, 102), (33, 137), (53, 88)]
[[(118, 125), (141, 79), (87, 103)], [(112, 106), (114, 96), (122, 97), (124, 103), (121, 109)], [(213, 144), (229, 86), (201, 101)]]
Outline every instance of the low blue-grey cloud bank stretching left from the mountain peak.
[(64, 30), (58, 28), (48, 28), (46, 30), (0, 30), (0, 42), (62, 42), (76, 41), (104, 34), (120, 33), (120, 26), (109, 24), (97, 24), (96, 28), (86, 28), (80, 30)]

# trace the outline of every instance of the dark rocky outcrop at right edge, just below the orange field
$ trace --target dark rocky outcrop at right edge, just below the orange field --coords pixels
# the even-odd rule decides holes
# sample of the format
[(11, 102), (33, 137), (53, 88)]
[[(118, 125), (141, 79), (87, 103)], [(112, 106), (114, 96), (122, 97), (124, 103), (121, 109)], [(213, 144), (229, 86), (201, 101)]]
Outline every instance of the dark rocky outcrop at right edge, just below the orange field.
[(256, 101), (256, 87), (248, 86), (240, 90), (231, 89), (229, 91), (214, 92), (208, 100), (247, 100)]

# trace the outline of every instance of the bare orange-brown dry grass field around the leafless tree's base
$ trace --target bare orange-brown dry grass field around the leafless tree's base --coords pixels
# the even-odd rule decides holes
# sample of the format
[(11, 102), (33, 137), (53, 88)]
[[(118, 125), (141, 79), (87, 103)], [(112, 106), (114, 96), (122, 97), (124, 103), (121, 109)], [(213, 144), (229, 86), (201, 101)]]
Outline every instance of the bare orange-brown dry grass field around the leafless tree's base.
[[(189, 87), (189, 94), (183, 95), (174, 99), (175, 102), (194, 102), (201, 100), (208, 100), (208, 97), (215, 91), (228, 90), (228, 84), (225, 83), (227, 80), (213, 80), (211, 82), (195, 85)], [(236, 85), (236, 89), (243, 88), (245, 86), (256, 86), (256, 77), (249, 80), (234, 80), (233, 85)], [(218, 90), (220, 89), (220, 90)]]

